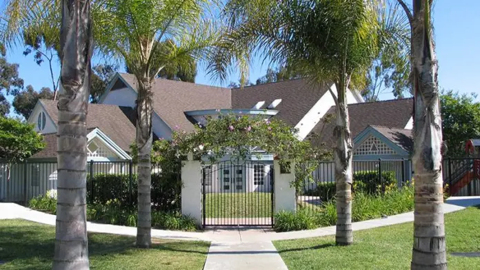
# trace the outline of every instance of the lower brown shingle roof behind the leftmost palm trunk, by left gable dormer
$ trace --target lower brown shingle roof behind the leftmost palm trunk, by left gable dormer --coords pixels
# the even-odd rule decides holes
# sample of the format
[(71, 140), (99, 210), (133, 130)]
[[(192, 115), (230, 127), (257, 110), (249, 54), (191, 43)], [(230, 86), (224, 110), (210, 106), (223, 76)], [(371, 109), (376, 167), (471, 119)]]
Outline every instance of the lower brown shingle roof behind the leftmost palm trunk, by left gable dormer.
[[(40, 100), (54, 123), (58, 121), (57, 101)], [(116, 105), (89, 104), (87, 115), (87, 129), (98, 127), (121, 149), (130, 152), (130, 144), (136, 138), (134, 125), (135, 112), (130, 107)], [(56, 145), (57, 143), (55, 143)], [(55, 154), (56, 155), (56, 154)]]

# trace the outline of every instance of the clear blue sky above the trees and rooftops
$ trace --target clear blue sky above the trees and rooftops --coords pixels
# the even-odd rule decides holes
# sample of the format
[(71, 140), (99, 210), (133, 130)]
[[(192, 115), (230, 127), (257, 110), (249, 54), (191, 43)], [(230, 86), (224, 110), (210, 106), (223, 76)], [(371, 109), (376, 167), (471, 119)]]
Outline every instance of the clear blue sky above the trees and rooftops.
[[(480, 63), (480, 1), (479, 0), (437, 0), (434, 6), (434, 30), (437, 44), (437, 59), (439, 61), (439, 85), (446, 90), (460, 93), (480, 94), (479, 76)], [(10, 63), (18, 63), (20, 77), (25, 85), (32, 85), (35, 90), (41, 87), (52, 88), (48, 65), (41, 66), (34, 62), (32, 54), (23, 55), (23, 48), (12, 48), (7, 52)], [(267, 63), (262, 65), (263, 59), (254, 59), (250, 67), (250, 81), (254, 82), (266, 73)], [(103, 59), (94, 56), (94, 64), (102, 63)], [(238, 81), (238, 72), (221, 83), (212, 79), (205, 71), (205, 64), (199, 63), (196, 83), (205, 85), (226, 86), (230, 81)], [(59, 63), (54, 65), (54, 74), (59, 75)], [(379, 96), (386, 100), (393, 98), (392, 94), (385, 93)], [(12, 97), (8, 97), (11, 101)], [(477, 96), (480, 101), (480, 96)], [(13, 111), (13, 108), (11, 108)]]

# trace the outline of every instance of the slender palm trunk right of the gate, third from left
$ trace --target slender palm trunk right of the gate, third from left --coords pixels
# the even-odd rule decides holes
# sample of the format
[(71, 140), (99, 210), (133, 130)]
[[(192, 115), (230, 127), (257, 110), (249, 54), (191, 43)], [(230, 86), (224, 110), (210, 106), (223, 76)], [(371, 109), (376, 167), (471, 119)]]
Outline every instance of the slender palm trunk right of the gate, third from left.
[(337, 230), (335, 242), (337, 245), (351, 245), (352, 234), (352, 138), (346, 100), (346, 76), (337, 86), (337, 126), (334, 138), (335, 182), (337, 183)]

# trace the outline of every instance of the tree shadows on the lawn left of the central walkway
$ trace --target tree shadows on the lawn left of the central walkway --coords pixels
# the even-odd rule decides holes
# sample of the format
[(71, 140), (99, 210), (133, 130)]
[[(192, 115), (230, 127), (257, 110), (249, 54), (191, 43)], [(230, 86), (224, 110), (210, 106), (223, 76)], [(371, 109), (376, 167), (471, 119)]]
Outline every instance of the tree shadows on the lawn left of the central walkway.
[[(21, 223), (19, 221), (17, 223)], [(0, 226), (0, 259), (3, 262), (12, 260), (39, 260), (50, 262), (54, 255), (54, 227), (45, 225), (7, 225)], [(110, 254), (126, 254), (137, 248), (132, 236), (117, 236), (107, 233), (88, 233), (88, 253), (93, 256), (108, 256)], [(208, 242), (179, 240), (157, 240), (151, 250), (199, 253), (195, 247), (208, 247)]]

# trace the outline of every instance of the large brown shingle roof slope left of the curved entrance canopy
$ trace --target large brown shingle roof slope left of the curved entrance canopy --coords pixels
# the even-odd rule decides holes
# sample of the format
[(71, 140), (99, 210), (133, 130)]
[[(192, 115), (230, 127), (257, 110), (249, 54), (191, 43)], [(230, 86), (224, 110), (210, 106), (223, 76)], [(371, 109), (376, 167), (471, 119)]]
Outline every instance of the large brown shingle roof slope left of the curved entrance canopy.
[[(132, 74), (120, 74), (135, 91), (137, 79)], [(174, 129), (194, 129), (183, 112), (192, 110), (226, 109), (232, 107), (231, 90), (167, 79), (157, 79), (153, 86), (153, 108), (160, 118)]]

